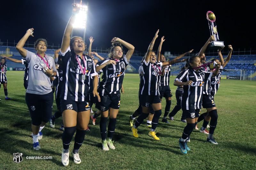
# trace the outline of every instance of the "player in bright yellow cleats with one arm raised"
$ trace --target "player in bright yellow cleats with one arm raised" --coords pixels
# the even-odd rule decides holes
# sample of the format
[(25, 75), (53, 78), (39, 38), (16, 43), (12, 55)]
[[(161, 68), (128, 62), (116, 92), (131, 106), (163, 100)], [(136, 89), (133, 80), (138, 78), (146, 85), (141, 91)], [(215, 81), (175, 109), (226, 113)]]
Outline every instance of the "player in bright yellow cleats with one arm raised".
[(152, 42), (150, 43), (148, 47), (148, 51), (146, 53), (145, 59), (142, 63), (142, 71), (143, 71), (143, 77), (140, 84), (140, 104), (142, 106), (142, 114), (137, 118), (137, 121), (132, 127), (132, 134), (134, 137), (138, 136), (138, 127), (143, 122), (143, 120), (148, 117), (149, 115), (149, 106), (152, 105), (155, 114), (152, 119), (152, 127), (150, 131), (148, 132), (148, 136), (153, 137), (155, 140), (160, 140), (156, 136), (156, 127), (159, 121), (159, 117), (162, 114), (162, 105), (159, 98), (159, 89), (158, 89), (158, 76), (161, 74), (161, 68), (165, 65), (170, 65), (174, 63), (183, 62), (181, 61), (169, 61), (164, 63), (158, 63), (156, 62), (156, 54), (152, 52), (152, 49), (154, 47), (154, 43), (156, 41), (156, 38), (158, 37), (157, 30)]

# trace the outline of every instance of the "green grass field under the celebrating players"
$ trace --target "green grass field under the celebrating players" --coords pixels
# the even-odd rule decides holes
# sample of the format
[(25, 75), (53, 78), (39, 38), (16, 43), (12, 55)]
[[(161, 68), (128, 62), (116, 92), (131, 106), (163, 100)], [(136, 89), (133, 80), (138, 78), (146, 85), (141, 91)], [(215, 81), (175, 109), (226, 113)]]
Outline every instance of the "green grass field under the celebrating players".
[[(256, 82), (243, 80), (221, 80), (215, 96), (218, 109), (218, 125), (214, 138), (219, 145), (206, 142), (207, 135), (194, 130), (188, 143), (188, 154), (180, 152), (178, 140), (186, 123), (180, 122), (179, 111), (170, 124), (159, 122), (156, 129), (160, 141), (148, 136), (146, 120), (138, 129), (139, 138), (132, 136), (127, 125), (129, 116), (138, 107), (139, 76), (125, 74), (124, 94), (117, 116), (113, 140), (116, 150), (102, 151), (100, 118), (87, 132), (79, 150), (82, 163), (76, 165), (70, 156), (69, 166), (61, 163), (62, 132), (58, 129), (61, 118), (56, 120), (55, 129), (49, 123), (42, 130), (39, 141), (41, 150), (33, 150), (31, 120), (25, 103), (23, 71), (8, 71), (8, 97), (4, 100), (3, 86), (0, 89), (0, 169), (256, 169)], [(173, 82), (171, 78), (171, 82)], [(172, 90), (172, 108), (176, 105), (176, 87)], [(163, 109), (165, 101), (162, 103)], [(53, 111), (56, 111), (53, 104)], [(95, 112), (95, 106), (93, 105)], [(164, 112), (164, 111), (162, 111)], [(204, 113), (205, 109), (201, 110)], [(163, 114), (160, 118), (162, 120)], [(169, 118), (168, 118), (169, 120)], [(198, 123), (198, 127), (203, 122)], [(70, 144), (73, 149), (74, 138)], [(13, 161), (13, 153), (22, 153), (23, 161)], [(70, 154), (71, 155), (71, 154)], [(52, 159), (26, 159), (27, 156), (51, 156)]]

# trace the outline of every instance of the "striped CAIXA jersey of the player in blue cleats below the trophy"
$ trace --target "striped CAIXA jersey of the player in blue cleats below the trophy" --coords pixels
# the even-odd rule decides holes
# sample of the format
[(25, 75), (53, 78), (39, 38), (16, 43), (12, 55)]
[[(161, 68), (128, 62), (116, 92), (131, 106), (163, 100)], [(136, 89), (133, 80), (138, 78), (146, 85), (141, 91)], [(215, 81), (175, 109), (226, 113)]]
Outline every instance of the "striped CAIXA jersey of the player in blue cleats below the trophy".
[(212, 72), (198, 70), (198, 73), (192, 69), (182, 71), (175, 81), (187, 82), (192, 80), (191, 85), (183, 85), (183, 94), (181, 99), (181, 108), (183, 110), (201, 109), (204, 81), (210, 80)]

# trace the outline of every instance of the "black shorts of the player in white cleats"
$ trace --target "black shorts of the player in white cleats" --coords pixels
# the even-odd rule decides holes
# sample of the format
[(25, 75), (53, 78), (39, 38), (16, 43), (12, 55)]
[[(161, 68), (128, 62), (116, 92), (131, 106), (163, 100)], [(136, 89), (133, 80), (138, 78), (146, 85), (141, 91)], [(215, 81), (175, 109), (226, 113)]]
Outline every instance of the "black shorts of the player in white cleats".
[(89, 95), (85, 96), (85, 101), (73, 101), (60, 99), (61, 113), (64, 110), (74, 110), (78, 112), (84, 112), (90, 110), (90, 99)]

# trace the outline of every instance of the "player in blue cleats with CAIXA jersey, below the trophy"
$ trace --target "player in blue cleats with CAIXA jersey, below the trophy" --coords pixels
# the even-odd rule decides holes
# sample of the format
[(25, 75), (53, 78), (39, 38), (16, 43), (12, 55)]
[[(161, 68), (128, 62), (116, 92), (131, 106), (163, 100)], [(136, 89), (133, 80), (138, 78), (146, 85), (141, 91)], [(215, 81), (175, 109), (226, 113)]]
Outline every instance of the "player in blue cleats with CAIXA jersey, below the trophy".
[(213, 72), (201, 71), (200, 58), (196, 55), (189, 57), (188, 64), (188, 69), (181, 72), (175, 78), (173, 83), (173, 85), (176, 86), (183, 85), (181, 108), (186, 117), (187, 126), (184, 128), (181, 139), (179, 139), (179, 144), (180, 151), (185, 154), (187, 153), (187, 150), (190, 150), (186, 140), (196, 126), (202, 107), (204, 81), (210, 80), (211, 77), (215, 77), (220, 68), (220, 62), (217, 62), (217, 68)]

